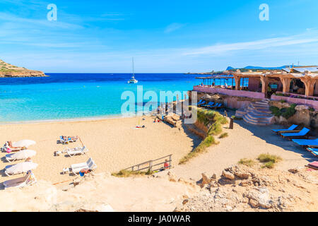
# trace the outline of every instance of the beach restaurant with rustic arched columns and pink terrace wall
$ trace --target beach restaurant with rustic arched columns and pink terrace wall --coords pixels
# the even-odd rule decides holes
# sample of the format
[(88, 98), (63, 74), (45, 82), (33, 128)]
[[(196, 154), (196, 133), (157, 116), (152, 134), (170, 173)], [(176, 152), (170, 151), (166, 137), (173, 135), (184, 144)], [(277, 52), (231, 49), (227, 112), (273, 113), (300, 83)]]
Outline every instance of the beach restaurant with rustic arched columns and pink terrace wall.
[(197, 77), (194, 91), (257, 99), (285, 100), (318, 109), (318, 66), (295, 66), (282, 70), (223, 71)]

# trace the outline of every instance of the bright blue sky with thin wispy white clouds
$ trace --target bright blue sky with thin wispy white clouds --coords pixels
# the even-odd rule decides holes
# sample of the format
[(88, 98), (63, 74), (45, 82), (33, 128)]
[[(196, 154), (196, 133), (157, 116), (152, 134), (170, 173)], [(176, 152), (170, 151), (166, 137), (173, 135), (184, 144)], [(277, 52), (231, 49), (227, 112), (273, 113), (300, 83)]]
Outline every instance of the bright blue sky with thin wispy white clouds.
[(46, 73), (129, 73), (131, 57), (137, 73), (318, 64), (317, 10), (317, 0), (1, 0), (0, 59)]

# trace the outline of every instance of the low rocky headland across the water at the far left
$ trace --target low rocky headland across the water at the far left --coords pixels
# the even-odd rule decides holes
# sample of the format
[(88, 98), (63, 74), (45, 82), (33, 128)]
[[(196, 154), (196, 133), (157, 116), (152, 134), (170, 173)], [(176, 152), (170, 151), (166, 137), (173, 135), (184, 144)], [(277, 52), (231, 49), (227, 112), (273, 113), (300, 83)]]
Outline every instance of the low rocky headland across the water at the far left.
[(0, 78), (45, 77), (42, 71), (34, 71), (8, 64), (0, 59)]

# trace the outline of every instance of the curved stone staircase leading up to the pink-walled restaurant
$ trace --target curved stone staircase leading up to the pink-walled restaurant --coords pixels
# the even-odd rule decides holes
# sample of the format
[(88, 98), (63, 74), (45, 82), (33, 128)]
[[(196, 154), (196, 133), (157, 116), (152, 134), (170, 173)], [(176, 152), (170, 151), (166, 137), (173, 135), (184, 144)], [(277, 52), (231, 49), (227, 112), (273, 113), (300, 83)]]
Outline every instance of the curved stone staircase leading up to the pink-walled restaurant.
[(269, 109), (268, 99), (251, 102), (245, 109), (237, 109), (235, 116), (241, 117), (247, 123), (257, 126), (267, 126), (273, 123), (273, 114), (271, 114)]

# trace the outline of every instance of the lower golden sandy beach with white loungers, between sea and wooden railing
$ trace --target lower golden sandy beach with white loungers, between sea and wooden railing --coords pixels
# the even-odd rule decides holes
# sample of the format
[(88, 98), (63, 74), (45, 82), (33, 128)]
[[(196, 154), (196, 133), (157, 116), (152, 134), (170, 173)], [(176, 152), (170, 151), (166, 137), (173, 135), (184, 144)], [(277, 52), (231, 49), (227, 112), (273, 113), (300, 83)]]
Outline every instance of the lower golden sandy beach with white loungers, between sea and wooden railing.
[[(38, 164), (33, 172), (37, 179), (59, 183), (75, 178), (69, 174), (61, 174), (64, 167), (86, 162), (88, 157), (95, 160), (96, 172), (117, 172), (120, 169), (136, 165), (147, 160), (172, 154), (172, 164), (192, 151), (201, 141), (192, 133), (172, 128), (165, 123), (153, 123), (153, 117), (102, 119), (96, 121), (61, 121), (36, 124), (1, 125), (0, 143), (30, 139), (37, 144), (29, 149), (36, 150), (33, 162)], [(136, 125), (145, 125), (146, 129), (136, 129)], [(57, 150), (81, 146), (81, 142), (62, 145), (57, 143), (59, 136), (79, 136), (89, 152), (86, 155), (66, 157), (64, 154), (54, 156)], [(13, 163), (6, 162), (1, 153), (0, 169)], [(0, 182), (20, 175), (6, 177), (2, 171)]]

